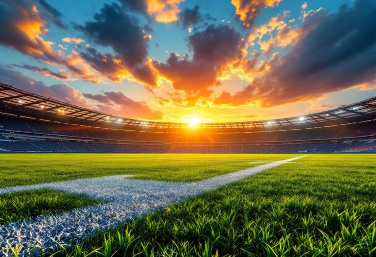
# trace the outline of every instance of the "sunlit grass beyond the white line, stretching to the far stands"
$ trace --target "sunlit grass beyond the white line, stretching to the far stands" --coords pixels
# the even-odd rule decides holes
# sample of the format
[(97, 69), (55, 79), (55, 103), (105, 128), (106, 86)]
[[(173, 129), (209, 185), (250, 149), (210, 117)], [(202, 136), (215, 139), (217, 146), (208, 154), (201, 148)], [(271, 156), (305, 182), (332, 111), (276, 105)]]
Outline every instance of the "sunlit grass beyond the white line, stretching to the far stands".
[[(136, 179), (197, 181), (296, 154), (0, 154), (0, 187), (132, 174)], [(262, 164), (262, 163), (261, 163)]]

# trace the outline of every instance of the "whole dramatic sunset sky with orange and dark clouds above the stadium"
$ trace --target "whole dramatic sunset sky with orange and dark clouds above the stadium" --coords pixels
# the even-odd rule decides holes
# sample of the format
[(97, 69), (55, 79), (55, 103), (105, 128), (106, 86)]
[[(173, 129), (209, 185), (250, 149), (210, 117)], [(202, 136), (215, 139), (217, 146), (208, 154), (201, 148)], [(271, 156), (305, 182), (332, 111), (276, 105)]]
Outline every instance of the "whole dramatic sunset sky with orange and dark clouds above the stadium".
[(0, 82), (171, 122), (376, 95), (375, 0), (0, 0)]

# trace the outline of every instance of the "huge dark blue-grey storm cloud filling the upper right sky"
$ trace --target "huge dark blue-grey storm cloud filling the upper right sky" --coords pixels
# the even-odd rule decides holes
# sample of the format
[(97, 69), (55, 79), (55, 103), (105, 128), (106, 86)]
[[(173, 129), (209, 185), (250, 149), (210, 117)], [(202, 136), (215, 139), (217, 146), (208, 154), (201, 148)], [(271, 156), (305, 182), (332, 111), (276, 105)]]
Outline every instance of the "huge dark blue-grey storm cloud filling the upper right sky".
[[(263, 106), (310, 100), (324, 93), (372, 83), (376, 79), (376, 1), (358, 0), (338, 12), (320, 9), (305, 23), (316, 24), (282, 56), (275, 55), (269, 70), (243, 91), (224, 92), (216, 101), (239, 105), (261, 100)], [(310, 27), (310, 26), (306, 26)]]

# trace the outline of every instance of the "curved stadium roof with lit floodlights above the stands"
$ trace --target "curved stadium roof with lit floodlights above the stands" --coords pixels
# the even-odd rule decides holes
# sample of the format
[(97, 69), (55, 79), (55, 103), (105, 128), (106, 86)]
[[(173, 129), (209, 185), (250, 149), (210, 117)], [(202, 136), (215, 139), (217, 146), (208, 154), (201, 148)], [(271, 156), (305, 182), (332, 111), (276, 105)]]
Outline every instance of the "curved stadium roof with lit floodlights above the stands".
[(244, 122), (198, 123), (192, 127), (190, 123), (157, 122), (113, 116), (0, 83), (0, 112), (86, 126), (139, 131), (175, 131), (184, 129), (223, 132), (287, 130), (376, 119), (376, 96), (350, 105), (342, 105), (329, 111), (299, 117)]

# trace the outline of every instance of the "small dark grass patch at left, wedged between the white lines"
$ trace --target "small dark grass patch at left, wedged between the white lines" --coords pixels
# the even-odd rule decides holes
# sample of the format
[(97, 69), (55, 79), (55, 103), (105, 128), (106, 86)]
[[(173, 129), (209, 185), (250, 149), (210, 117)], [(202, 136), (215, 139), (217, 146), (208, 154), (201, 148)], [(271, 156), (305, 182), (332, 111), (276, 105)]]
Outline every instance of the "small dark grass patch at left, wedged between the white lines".
[(51, 189), (0, 194), (0, 224), (43, 214), (59, 214), (95, 204), (100, 204), (100, 201)]

